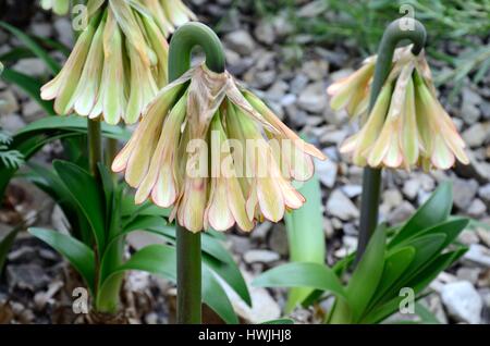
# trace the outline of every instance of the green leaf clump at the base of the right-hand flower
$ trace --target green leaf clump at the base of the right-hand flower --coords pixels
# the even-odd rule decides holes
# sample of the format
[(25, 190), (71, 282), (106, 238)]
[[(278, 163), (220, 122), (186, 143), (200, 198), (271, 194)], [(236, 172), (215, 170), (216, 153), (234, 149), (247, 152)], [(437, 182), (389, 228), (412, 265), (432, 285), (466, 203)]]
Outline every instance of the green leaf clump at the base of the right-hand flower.
[(380, 225), (351, 275), (347, 269), (355, 254), (333, 268), (306, 262), (280, 265), (254, 284), (310, 287), (323, 292), (321, 299), (333, 295), (326, 323), (381, 323), (406, 299), (402, 288), (412, 289), (416, 299), (424, 297), (430, 282), (467, 250), (455, 239), (469, 220), (451, 217), (452, 203), (451, 184), (443, 183), (403, 225), (389, 230)]

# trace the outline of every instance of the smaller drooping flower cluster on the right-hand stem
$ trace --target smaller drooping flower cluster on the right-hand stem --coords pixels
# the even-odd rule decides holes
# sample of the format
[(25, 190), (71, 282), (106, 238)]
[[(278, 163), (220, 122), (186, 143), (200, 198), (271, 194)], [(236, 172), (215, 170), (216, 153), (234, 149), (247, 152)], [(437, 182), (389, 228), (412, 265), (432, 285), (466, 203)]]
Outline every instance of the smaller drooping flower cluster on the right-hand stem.
[(411, 49), (395, 51), (390, 75), (370, 114), (367, 110), (376, 57), (329, 87), (332, 109), (345, 108), (351, 116), (368, 115), (341, 151), (351, 153), (355, 164), (371, 168), (446, 170), (456, 159), (467, 164), (465, 143), (437, 99), (424, 52), (415, 57)]

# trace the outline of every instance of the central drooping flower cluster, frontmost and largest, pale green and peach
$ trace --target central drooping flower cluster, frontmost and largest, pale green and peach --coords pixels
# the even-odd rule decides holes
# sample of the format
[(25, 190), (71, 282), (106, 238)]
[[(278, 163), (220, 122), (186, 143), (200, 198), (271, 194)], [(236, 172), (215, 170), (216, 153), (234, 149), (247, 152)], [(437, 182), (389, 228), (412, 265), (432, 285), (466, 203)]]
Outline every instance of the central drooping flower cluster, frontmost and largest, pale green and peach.
[(172, 208), (192, 232), (250, 231), (303, 206), (291, 183), (313, 175), (311, 157), (324, 159), (228, 72), (199, 65), (159, 91), (112, 170), (136, 203)]

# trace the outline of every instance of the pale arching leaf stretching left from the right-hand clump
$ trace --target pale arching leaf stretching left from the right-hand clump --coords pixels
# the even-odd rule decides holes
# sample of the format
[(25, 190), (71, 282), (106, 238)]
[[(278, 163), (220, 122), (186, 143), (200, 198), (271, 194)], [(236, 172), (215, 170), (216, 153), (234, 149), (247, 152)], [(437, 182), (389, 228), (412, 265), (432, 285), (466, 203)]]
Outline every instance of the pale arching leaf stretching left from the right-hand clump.
[(258, 287), (311, 287), (346, 298), (335, 273), (326, 264), (287, 263), (273, 268), (253, 282)]

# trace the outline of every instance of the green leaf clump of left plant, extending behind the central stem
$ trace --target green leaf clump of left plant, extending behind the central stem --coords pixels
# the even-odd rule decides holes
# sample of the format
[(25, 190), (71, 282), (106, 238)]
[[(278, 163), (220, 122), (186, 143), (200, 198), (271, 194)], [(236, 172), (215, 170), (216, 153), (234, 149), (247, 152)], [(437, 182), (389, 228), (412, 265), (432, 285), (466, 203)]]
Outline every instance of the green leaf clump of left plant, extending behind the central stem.
[[(166, 221), (168, 210), (150, 203), (135, 206), (124, 185), (114, 183), (103, 165), (99, 165), (103, 191), (98, 189), (95, 177), (74, 163), (54, 161), (54, 171), (37, 164), (30, 166), (25, 177), (57, 201), (70, 233), (41, 228), (29, 232), (63, 255), (81, 274), (96, 311), (119, 310), (125, 271), (142, 270), (175, 281), (175, 230)], [(125, 260), (125, 237), (136, 231), (159, 235), (168, 245), (149, 245)], [(203, 252), (204, 302), (225, 322), (237, 323), (222, 282), (252, 305), (245, 281), (213, 233), (204, 235)]]

